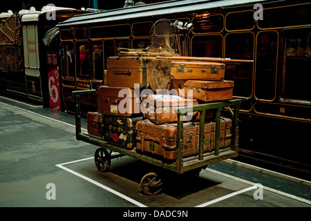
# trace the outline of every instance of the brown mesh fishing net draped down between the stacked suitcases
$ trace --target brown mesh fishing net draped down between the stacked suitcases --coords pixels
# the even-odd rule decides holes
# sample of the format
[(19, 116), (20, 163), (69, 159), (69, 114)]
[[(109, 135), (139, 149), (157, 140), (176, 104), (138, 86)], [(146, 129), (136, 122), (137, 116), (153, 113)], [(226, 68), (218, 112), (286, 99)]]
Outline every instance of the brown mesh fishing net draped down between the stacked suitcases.
[[(151, 47), (161, 56), (172, 56), (172, 48), (176, 41), (176, 28), (167, 19), (160, 19), (153, 24), (150, 32)], [(171, 62), (167, 59), (149, 59), (148, 77), (149, 85), (153, 91), (163, 90), (169, 84), (171, 75)]]

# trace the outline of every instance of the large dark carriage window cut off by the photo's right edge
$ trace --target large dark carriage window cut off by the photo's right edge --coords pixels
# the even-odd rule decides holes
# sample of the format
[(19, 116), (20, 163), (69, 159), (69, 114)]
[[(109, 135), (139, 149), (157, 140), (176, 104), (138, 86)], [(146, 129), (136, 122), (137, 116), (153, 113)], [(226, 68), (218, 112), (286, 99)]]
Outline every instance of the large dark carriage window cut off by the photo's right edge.
[(311, 28), (283, 30), (283, 72), (281, 100), (308, 103), (311, 101)]

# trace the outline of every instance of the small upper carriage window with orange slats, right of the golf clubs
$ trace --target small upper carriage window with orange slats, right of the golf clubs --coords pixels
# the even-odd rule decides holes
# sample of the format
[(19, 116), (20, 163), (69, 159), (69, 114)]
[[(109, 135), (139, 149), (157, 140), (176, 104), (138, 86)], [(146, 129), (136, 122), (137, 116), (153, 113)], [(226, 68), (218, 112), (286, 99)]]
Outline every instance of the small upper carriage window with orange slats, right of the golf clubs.
[(194, 33), (221, 32), (223, 30), (223, 15), (198, 15), (192, 20)]

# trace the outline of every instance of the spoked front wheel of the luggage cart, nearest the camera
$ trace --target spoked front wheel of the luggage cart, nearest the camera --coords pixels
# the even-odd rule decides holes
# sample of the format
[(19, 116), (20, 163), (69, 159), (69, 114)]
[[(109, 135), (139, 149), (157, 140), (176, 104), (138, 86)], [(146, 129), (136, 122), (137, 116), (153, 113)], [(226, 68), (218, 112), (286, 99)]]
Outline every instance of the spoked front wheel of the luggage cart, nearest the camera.
[(162, 180), (156, 173), (147, 173), (140, 181), (142, 192), (146, 195), (157, 195), (162, 191)]

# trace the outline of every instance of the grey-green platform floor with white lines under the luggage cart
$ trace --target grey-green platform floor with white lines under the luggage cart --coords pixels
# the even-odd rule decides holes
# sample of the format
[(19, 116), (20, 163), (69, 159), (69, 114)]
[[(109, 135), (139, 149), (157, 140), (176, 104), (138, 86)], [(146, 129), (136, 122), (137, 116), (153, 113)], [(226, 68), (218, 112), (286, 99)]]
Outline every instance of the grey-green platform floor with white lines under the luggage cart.
[(155, 166), (124, 156), (109, 172), (97, 171), (97, 147), (76, 140), (74, 115), (0, 97), (0, 122), (1, 207), (120, 207), (120, 218), (146, 219), (164, 208), (185, 215), (194, 207), (311, 207), (308, 180), (236, 160), (210, 164), (198, 176), (160, 171), (162, 193), (144, 195), (140, 179)]

